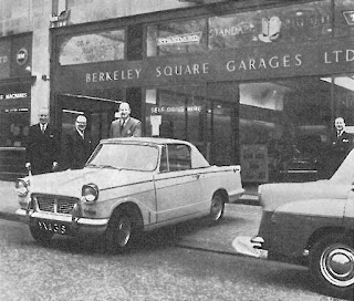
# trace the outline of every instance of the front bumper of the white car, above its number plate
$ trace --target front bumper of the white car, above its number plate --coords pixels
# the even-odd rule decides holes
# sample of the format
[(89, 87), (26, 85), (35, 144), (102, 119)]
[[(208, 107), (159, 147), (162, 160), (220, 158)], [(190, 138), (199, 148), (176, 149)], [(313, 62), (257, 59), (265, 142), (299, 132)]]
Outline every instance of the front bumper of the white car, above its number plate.
[(19, 216), (19, 219), (22, 222), (28, 225), (31, 224), (31, 220), (48, 220), (56, 221), (70, 225), (73, 232), (83, 232), (91, 235), (101, 235), (103, 233), (108, 225), (108, 218), (93, 219), (93, 218), (82, 218), (82, 217), (72, 217), (69, 215), (58, 215), (52, 212), (43, 211), (33, 211), (25, 209), (18, 209), (15, 214)]

